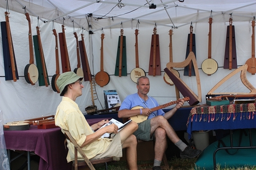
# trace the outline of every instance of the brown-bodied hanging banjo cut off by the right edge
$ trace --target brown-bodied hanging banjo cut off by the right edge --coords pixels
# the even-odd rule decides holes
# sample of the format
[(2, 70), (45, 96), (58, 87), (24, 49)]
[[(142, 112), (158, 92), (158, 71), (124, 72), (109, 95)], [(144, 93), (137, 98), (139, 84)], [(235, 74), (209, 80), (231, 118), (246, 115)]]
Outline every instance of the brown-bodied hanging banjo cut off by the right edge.
[(256, 73), (256, 58), (255, 58), (255, 35), (254, 35), (254, 27), (255, 27), (255, 18), (253, 18), (252, 21), (252, 29), (253, 29), (253, 33), (252, 33), (252, 57), (249, 58), (245, 64), (248, 65), (247, 71), (251, 74), (255, 74)]

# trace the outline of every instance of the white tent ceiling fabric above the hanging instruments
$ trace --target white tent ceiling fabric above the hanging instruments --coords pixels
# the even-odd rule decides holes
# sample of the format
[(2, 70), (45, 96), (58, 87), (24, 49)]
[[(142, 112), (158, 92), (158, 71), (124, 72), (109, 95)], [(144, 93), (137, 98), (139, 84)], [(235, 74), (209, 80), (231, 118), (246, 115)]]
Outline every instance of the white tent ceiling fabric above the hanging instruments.
[[(6, 8), (6, 0), (0, 0)], [(155, 9), (149, 6), (156, 5)], [(255, 16), (255, 0), (9, 0), (10, 10), (20, 13), (26, 10), (45, 23), (56, 21), (69, 26), (83, 27), (88, 31), (88, 14), (92, 14), (92, 29), (120, 27), (121, 23), (139, 20), (144, 23), (182, 27), (191, 22), (208, 21), (209, 15), (230, 13), (242, 16), (240, 21), (251, 21)], [(20, 7), (20, 8), (19, 8)], [(191, 16), (197, 16), (191, 20)], [(65, 19), (63, 21), (63, 19)], [(70, 21), (69, 21), (70, 20)], [(238, 19), (237, 19), (238, 20)], [(237, 21), (236, 20), (236, 21)], [(126, 27), (123, 24), (123, 27)], [(130, 25), (129, 25), (130, 27)]]

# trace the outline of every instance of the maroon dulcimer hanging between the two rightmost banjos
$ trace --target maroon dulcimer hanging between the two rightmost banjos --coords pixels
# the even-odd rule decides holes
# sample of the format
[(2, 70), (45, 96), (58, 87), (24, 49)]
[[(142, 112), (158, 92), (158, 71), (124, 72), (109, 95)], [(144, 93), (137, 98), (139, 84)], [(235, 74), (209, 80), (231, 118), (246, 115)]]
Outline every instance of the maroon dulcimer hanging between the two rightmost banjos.
[(229, 25), (227, 27), (227, 39), (224, 57), (223, 69), (237, 69), (237, 50), (235, 39), (235, 26), (232, 25), (232, 18), (229, 18)]

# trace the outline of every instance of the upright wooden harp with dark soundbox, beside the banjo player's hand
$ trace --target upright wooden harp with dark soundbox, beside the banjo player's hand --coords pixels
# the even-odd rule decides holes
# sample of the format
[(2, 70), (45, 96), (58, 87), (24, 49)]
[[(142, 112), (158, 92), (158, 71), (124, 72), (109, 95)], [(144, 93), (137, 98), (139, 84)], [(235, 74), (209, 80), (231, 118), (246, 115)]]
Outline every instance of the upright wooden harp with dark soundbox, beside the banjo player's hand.
[[(176, 68), (182, 68), (190, 64), (192, 62), (194, 68), (195, 68), (195, 77), (196, 77), (196, 82), (197, 82), (197, 91), (198, 91), (198, 96), (182, 81), (181, 78), (179, 78), (174, 72), (171, 70), (171, 67), (176, 67)], [(184, 97), (189, 97), (190, 101), (189, 104), (190, 106), (196, 105), (202, 101), (201, 97), (201, 83), (200, 83), (200, 77), (199, 77), (199, 72), (198, 72), (198, 66), (196, 64), (196, 59), (195, 55), (193, 52), (190, 52), (189, 55), (187, 56), (186, 60), (179, 62), (179, 63), (167, 63), (164, 71), (166, 74), (170, 77), (170, 79), (173, 81), (174, 85), (179, 89), (180, 93)]]

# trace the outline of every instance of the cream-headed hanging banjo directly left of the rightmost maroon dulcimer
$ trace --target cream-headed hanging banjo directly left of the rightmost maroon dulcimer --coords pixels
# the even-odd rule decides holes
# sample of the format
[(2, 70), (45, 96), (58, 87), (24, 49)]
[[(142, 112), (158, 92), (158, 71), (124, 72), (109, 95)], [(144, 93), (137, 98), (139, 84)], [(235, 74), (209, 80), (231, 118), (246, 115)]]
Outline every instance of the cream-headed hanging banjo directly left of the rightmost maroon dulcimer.
[(209, 18), (209, 42), (208, 42), (208, 58), (202, 62), (202, 71), (210, 76), (218, 69), (217, 62), (212, 59), (212, 17)]

